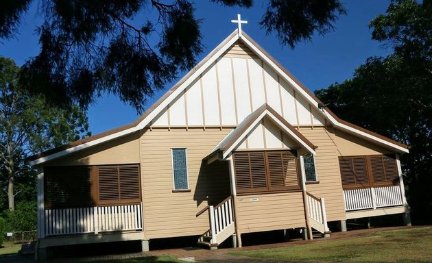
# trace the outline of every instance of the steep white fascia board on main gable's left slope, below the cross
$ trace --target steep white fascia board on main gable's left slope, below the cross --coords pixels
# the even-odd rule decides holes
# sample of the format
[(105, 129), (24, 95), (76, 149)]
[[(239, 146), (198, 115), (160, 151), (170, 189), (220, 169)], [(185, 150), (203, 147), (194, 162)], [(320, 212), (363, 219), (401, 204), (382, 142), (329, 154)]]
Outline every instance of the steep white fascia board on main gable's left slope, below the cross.
[(192, 71), (195, 70), (195, 73), (193, 73), (190, 77), (188, 77), (188, 79), (186, 79), (176, 90), (174, 90), (174, 92), (172, 92), (171, 95), (169, 95), (169, 97), (167, 97), (167, 99), (165, 99), (165, 101), (160, 103), (158, 105), (158, 107), (156, 107), (156, 109), (153, 110), (153, 112), (150, 112), (150, 114), (148, 116), (146, 116), (143, 119), (143, 121), (141, 121), (141, 123), (139, 123), (137, 125), (137, 127), (139, 127), (139, 129), (143, 129), (147, 124), (150, 123), (150, 121), (152, 121), (154, 118), (156, 118), (156, 116), (163, 109), (165, 109), (165, 107), (167, 107), (167, 105), (169, 105), (169, 103), (171, 103), (171, 101), (176, 99), (176, 97), (178, 95), (180, 95), (180, 93), (183, 92), (183, 90), (185, 88), (187, 88), (187, 86), (189, 86), (197, 77), (200, 77), (200, 75), (209, 66), (211, 66), (211, 64), (213, 64), (222, 55), (222, 53), (224, 53), (226, 51), (226, 49), (231, 47), (231, 45), (234, 44), (234, 42), (236, 42), (238, 39), (239, 39), (239, 36), (238, 36), (238, 34), (236, 34), (230, 40), (228, 40), (228, 42), (226, 42), (226, 44), (223, 47), (221, 47), (217, 52), (215, 52), (215, 54), (213, 54), (213, 56), (211, 56), (211, 58), (209, 58), (204, 64), (202, 64), (202, 66), (200, 66), (200, 68), (197, 68), (196, 70), (195, 70), (195, 68), (193, 68)]

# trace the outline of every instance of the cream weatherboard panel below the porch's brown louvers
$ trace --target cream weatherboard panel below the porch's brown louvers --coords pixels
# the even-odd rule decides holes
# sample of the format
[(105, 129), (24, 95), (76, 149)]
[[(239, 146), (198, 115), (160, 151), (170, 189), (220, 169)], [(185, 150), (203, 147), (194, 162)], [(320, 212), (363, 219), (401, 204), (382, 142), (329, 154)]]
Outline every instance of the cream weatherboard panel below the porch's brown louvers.
[(241, 233), (306, 227), (302, 192), (237, 196)]

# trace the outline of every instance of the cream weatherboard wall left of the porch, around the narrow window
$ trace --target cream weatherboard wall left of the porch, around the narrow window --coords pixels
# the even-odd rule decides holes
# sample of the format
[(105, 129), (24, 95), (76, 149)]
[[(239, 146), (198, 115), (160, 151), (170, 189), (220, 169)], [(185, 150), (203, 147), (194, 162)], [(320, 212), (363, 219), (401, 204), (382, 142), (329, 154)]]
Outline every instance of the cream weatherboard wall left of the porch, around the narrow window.
[[(202, 161), (231, 129), (152, 128), (141, 136), (141, 184), (145, 238), (200, 235), (208, 230), (206, 205), (230, 195), (228, 162)], [(191, 192), (173, 192), (172, 148), (187, 149)]]

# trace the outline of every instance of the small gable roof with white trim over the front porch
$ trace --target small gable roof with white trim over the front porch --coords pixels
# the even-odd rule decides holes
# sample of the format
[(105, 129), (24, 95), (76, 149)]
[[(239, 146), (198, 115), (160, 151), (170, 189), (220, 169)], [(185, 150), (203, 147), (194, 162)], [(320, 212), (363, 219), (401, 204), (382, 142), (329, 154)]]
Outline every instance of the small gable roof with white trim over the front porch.
[(239, 146), (243, 139), (248, 136), (252, 129), (265, 116), (272, 119), (276, 125), (285, 132), (290, 138), (302, 146), (306, 151), (315, 155), (315, 145), (304, 137), (297, 129), (290, 125), (283, 116), (280, 116), (276, 110), (264, 103), (260, 108), (249, 114), (235, 129), (233, 129), (219, 145), (209, 153), (204, 160), (211, 158), (215, 154), (221, 153), (221, 159), (225, 159), (230, 153)]

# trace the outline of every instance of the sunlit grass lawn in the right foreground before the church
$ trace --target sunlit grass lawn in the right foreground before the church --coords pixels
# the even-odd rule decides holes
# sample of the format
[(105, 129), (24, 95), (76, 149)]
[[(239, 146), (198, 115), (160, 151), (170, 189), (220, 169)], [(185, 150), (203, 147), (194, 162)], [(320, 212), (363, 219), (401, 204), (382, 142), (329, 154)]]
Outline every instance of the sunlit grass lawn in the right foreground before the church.
[(432, 262), (432, 227), (371, 231), (370, 234), (362, 238), (230, 254), (324, 262)]

